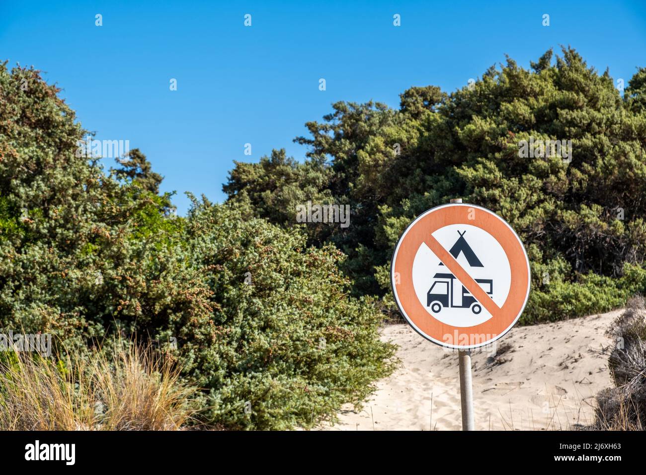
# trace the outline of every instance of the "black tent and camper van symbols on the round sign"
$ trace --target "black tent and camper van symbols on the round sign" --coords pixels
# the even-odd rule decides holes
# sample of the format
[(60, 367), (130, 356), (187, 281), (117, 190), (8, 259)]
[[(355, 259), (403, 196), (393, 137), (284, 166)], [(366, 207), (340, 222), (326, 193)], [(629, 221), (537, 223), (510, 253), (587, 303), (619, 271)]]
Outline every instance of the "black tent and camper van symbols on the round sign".
[[(463, 231), (462, 233), (460, 233), (460, 231), (457, 231), (457, 233), (460, 235), (460, 237), (455, 242), (455, 244), (453, 244), (453, 247), (449, 251), (453, 255), (453, 257), (457, 259), (460, 253), (464, 253), (464, 257), (466, 257), (469, 266), (485, 267), (475, 255), (473, 249), (471, 249), (469, 244), (466, 242), (466, 239), (464, 239), (464, 233), (466, 233), (466, 231)], [(444, 266), (442, 262), (440, 262), (440, 265)], [(471, 295), (471, 293), (466, 290), (464, 286), (460, 286), (461, 290), (454, 288), (457, 287), (453, 285), (454, 280), (456, 280), (455, 275), (451, 273), (439, 272), (433, 275), (433, 284), (428, 290), (428, 293), (426, 293), (426, 306), (430, 307), (431, 310), (435, 313), (439, 313), (439, 311), (441, 311), (444, 307), (471, 308), (471, 311), (476, 315), (480, 313), (483, 310), (481, 304), (479, 304), (475, 297)], [(494, 280), (474, 280), (479, 286), (481, 286), (481, 288), (483, 288), (486, 293), (488, 293), (490, 297), (493, 295)]]

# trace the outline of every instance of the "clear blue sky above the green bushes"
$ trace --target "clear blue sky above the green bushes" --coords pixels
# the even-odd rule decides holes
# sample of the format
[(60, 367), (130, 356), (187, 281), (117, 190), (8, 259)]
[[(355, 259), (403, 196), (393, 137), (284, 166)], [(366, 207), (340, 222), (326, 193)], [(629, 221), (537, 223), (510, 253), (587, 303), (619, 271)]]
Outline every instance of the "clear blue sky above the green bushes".
[(302, 159), (293, 138), (338, 100), (397, 107), (413, 85), (450, 92), (505, 54), (528, 67), (559, 45), (626, 83), (646, 66), (643, 1), (348, 4), (0, 0), (0, 59), (43, 70), (97, 139), (139, 147), (180, 214), (184, 191), (224, 200), (233, 160)]

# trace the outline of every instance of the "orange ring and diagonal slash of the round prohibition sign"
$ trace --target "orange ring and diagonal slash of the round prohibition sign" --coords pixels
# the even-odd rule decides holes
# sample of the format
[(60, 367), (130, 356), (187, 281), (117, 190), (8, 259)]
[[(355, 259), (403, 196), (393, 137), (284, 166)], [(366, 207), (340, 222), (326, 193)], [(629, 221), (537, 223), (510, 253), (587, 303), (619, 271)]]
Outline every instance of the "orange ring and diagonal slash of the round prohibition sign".
[[(476, 213), (475, 220), (468, 219), (471, 210)], [(479, 286), (476, 285), (476, 288), (473, 288), (472, 285), (467, 286), (467, 289), (472, 291), (472, 295), (494, 315), (488, 321), (475, 326), (452, 326), (435, 319), (417, 299), (413, 288), (412, 269), (417, 249), (422, 242), (426, 242), (431, 249), (437, 249), (439, 243), (432, 237), (432, 233), (451, 224), (470, 224), (490, 233), (503, 247), (512, 272), (512, 285), (502, 308), (499, 308), (490, 298), (483, 299), (483, 295), (486, 293)], [(439, 253), (444, 265), (456, 277), (456, 271), (466, 274), (448, 251), (441, 248)], [(397, 273), (399, 273), (399, 283), (396, 283), (395, 279)], [(493, 343), (511, 330), (525, 310), (531, 286), (529, 259), (516, 231), (490, 209), (469, 203), (444, 204), (428, 209), (417, 216), (406, 227), (395, 246), (390, 275), (395, 301), (408, 324), (422, 337), (433, 343), (461, 350), (479, 348)], [(468, 279), (472, 281), (470, 277)], [(478, 298), (479, 296), (481, 298)], [(465, 340), (473, 342), (472, 335), (486, 335), (487, 339), (471, 344), (452, 344), (444, 341), (446, 335), (450, 335), (455, 343)]]

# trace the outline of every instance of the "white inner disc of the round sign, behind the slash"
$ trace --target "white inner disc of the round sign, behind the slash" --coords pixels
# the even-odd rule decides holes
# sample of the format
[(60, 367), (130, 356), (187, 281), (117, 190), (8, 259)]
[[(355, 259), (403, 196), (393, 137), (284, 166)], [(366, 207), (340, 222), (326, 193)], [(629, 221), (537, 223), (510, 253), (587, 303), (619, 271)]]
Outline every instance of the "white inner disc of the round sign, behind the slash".
[[(512, 283), (512, 271), (503, 246), (492, 235), (470, 224), (451, 224), (432, 234), (502, 307)], [(493, 316), (424, 242), (413, 261), (413, 286), (426, 311), (443, 323), (474, 326)]]

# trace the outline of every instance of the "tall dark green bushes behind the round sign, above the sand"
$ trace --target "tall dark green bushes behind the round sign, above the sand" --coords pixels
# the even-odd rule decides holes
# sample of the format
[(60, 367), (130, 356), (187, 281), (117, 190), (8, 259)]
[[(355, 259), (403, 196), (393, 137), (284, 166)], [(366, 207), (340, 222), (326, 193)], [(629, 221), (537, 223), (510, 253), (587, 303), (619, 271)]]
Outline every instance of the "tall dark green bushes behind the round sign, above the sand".
[[(646, 253), (646, 69), (621, 96), (608, 71), (563, 48), (530, 69), (508, 58), (450, 94), (427, 86), (400, 97), (399, 109), (334, 103), (296, 139), (309, 146), (304, 164), (282, 152), (237, 164), (224, 187), (229, 200), (286, 227), (306, 199), (349, 204), (350, 227), (308, 227), (309, 242), (344, 251), (355, 295), (382, 297), (392, 314), (395, 243), (415, 216), (450, 198), (492, 209), (525, 243), (532, 295), (523, 321), (625, 302), (625, 264), (641, 266)], [(571, 154), (519, 156), (532, 138), (571, 140)], [(311, 190), (306, 198), (286, 193), (298, 180)]]

